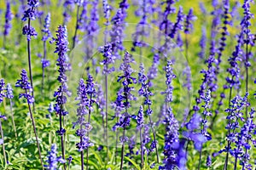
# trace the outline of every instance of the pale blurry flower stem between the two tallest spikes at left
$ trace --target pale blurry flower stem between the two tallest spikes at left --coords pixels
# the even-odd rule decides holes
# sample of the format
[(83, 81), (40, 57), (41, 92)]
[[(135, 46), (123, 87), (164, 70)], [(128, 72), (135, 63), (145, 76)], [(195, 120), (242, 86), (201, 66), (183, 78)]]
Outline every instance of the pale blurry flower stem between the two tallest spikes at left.
[(44, 36), (42, 38), (42, 41), (44, 42), (44, 57), (41, 60), (42, 63), (42, 88), (41, 93), (44, 94), (44, 77), (45, 77), (45, 68), (49, 66), (49, 60), (46, 59), (47, 53), (46, 53), (46, 41), (51, 37), (51, 32), (49, 30), (50, 25), (50, 13), (48, 13), (44, 19), (44, 29), (42, 32), (44, 33)]

